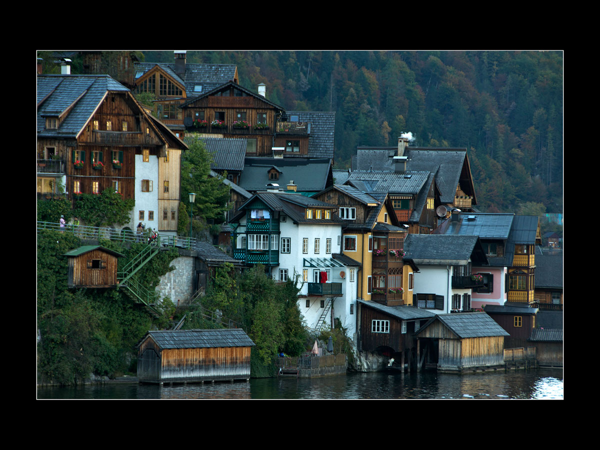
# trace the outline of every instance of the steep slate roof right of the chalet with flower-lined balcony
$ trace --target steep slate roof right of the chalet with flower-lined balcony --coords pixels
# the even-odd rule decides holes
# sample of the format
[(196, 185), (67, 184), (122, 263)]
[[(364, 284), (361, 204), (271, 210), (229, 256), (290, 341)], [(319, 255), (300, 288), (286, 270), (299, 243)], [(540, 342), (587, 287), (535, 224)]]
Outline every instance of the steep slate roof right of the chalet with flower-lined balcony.
[[(308, 157), (334, 158), (335, 112), (287, 111), (300, 122), (310, 122)], [(286, 154), (286, 157), (293, 156)]]

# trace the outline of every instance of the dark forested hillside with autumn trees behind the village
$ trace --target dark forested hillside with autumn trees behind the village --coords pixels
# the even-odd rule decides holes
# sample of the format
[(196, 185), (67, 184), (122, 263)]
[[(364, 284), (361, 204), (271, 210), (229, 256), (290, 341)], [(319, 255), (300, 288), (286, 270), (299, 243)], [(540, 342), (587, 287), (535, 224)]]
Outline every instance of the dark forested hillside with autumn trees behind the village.
[[(145, 52), (173, 62), (173, 52)], [(287, 110), (335, 111), (335, 167), (356, 146), (466, 147), (479, 208), (562, 212), (562, 52), (194, 52)], [(536, 211), (532, 209), (536, 204)]]

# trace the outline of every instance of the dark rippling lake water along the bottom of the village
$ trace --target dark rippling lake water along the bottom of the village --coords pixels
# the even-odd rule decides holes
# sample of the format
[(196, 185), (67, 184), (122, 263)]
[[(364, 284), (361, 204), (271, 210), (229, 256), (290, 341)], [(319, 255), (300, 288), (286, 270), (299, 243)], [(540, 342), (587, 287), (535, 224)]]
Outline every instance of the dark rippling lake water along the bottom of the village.
[(348, 373), (313, 379), (251, 379), (173, 386), (106, 383), (77, 388), (38, 388), (39, 399), (535, 399), (562, 400), (557, 369), (474, 374), (422, 372)]

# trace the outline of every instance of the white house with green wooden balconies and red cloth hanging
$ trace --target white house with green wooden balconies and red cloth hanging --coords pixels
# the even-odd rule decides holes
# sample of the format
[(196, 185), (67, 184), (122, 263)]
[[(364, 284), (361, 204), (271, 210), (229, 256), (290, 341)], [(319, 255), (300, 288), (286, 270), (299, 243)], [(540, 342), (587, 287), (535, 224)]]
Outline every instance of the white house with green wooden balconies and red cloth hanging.
[(302, 284), (298, 306), (309, 328), (335, 326), (355, 332), (360, 264), (341, 254), (337, 206), (277, 188), (254, 194), (233, 217), (233, 256), (262, 263), (277, 281)]

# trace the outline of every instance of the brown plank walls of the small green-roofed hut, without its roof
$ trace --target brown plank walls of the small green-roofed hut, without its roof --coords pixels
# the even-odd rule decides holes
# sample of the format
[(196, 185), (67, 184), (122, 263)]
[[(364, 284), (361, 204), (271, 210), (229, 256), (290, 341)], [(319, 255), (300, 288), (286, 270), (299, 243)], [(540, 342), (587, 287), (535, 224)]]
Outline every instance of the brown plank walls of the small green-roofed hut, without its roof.
[[(100, 260), (100, 268), (91, 268)], [(98, 249), (69, 258), (68, 287), (114, 287), (118, 258)]]

